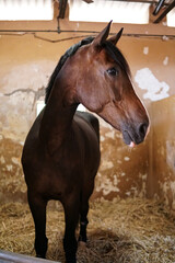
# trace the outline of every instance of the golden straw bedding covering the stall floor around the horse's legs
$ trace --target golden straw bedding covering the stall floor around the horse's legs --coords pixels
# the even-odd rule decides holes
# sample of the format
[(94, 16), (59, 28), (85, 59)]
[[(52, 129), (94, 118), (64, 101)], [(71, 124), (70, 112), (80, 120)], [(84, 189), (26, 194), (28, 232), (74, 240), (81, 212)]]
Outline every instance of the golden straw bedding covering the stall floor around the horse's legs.
[[(26, 204), (0, 207), (0, 249), (34, 255), (34, 225)], [(79, 263), (175, 263), (175, 221), (156, 201), (128, 198), (90, 203), (86, 248)], [(65, 262), (65, 218), (59, 203), (48, 206), (47, 259)]]

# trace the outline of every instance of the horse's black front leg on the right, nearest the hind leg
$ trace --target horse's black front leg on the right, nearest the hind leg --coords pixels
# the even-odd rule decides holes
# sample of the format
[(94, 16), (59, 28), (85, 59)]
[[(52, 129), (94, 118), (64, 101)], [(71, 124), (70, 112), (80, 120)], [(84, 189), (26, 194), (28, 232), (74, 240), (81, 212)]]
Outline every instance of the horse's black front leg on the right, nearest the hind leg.
[(75, 228), (79, 221), (79, 204), (80, 198), (69, 198), (63, 204), (66, 218), (63, 249), (67, 263), (77, 262), (78, 241), (75, 239)]

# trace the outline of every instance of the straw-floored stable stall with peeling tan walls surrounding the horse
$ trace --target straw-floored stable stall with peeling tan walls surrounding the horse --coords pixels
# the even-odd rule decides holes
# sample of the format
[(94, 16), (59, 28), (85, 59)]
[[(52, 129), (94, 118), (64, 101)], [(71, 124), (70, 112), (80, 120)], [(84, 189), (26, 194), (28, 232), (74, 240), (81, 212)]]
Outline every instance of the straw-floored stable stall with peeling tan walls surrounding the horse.
[[(129, 148), (121, 133), (98, 117), (101, 165), (90, 199), (88, 244), (79, 244), (78, 262), (175, 262), (174, 3), (0, 2), (0, 261), (35, 262), (28, 258), (35, 256), (35, 230), (21, 156), (45, 105), (49, 77), (70, 46), (97, 35), (113, 20), (110, 36), (124, 27), (117, 47), (149, 113), (150, 133), (142, 144)], [(27, 15), (35, 16), (26, 16), (24, 7)], [(96, 21), (97, 13), (103, 19)], [(65, 262), (65, 214), (59, 202), (48, 204), (46, 231), (47, 260)]]

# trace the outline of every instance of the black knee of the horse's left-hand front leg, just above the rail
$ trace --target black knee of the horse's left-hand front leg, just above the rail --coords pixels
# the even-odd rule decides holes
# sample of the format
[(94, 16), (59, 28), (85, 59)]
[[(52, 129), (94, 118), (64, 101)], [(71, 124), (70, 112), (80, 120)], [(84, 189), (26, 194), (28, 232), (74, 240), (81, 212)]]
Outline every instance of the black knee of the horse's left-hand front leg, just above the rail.
[(37, 258), (43, 258), (43, 259), (46, 258), (47, 244), (48, 244), (48, 239), (46, 237), (35, 239), (35, 251), (36, 251)]

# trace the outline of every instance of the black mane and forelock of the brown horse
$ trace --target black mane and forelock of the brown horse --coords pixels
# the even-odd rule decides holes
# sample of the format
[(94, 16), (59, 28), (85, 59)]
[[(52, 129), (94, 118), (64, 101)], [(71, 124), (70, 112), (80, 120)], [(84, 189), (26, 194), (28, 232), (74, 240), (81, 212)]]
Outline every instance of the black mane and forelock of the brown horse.
[[(66, 62), (66, 60), (71, 57), (72, 55), (75, 54), (75, 52), (83, 45), (88, 45), (90, 43), (92, 43), (92, 41), (94, 39), (94, 37), (88, 37), (88, 38), (84, 38), (82, 41), (80, 41), (79, 43), (74, 44), (73, 46), (71, 46), (66, 53), (65, 55), (61, 56), (58, 65), (56, 66), (50, 79), (49, 79), (49, 82), (48, 82), (48, 85), (46, 88), (46, 96), (45, 96), (45, 103), (47, 103), (48, 101), (48, 98), (50, 95), (50, 91), (51, 91), (51, 88), (54, 85), (54, 82), (56, 80), (56, 77), (59, 72), (59, 70), (61, 69), (61, 67), (63, 66), (63, 64)], [(120, 66), (120, 68), (127, 73), (130, 76), (130, 69), (129, 69), (129, 66), (128, 66), (128, 62), (127, 60), (125, 59), (125, 57), (122, 56), (121, 52), (115, 46), (113, 45), (110, 42), (108, 41), (105, 41), (104, 44), (103, 44), (103, 47), (106, 49), (106, 52), (108, 53), (108, 55)]]

